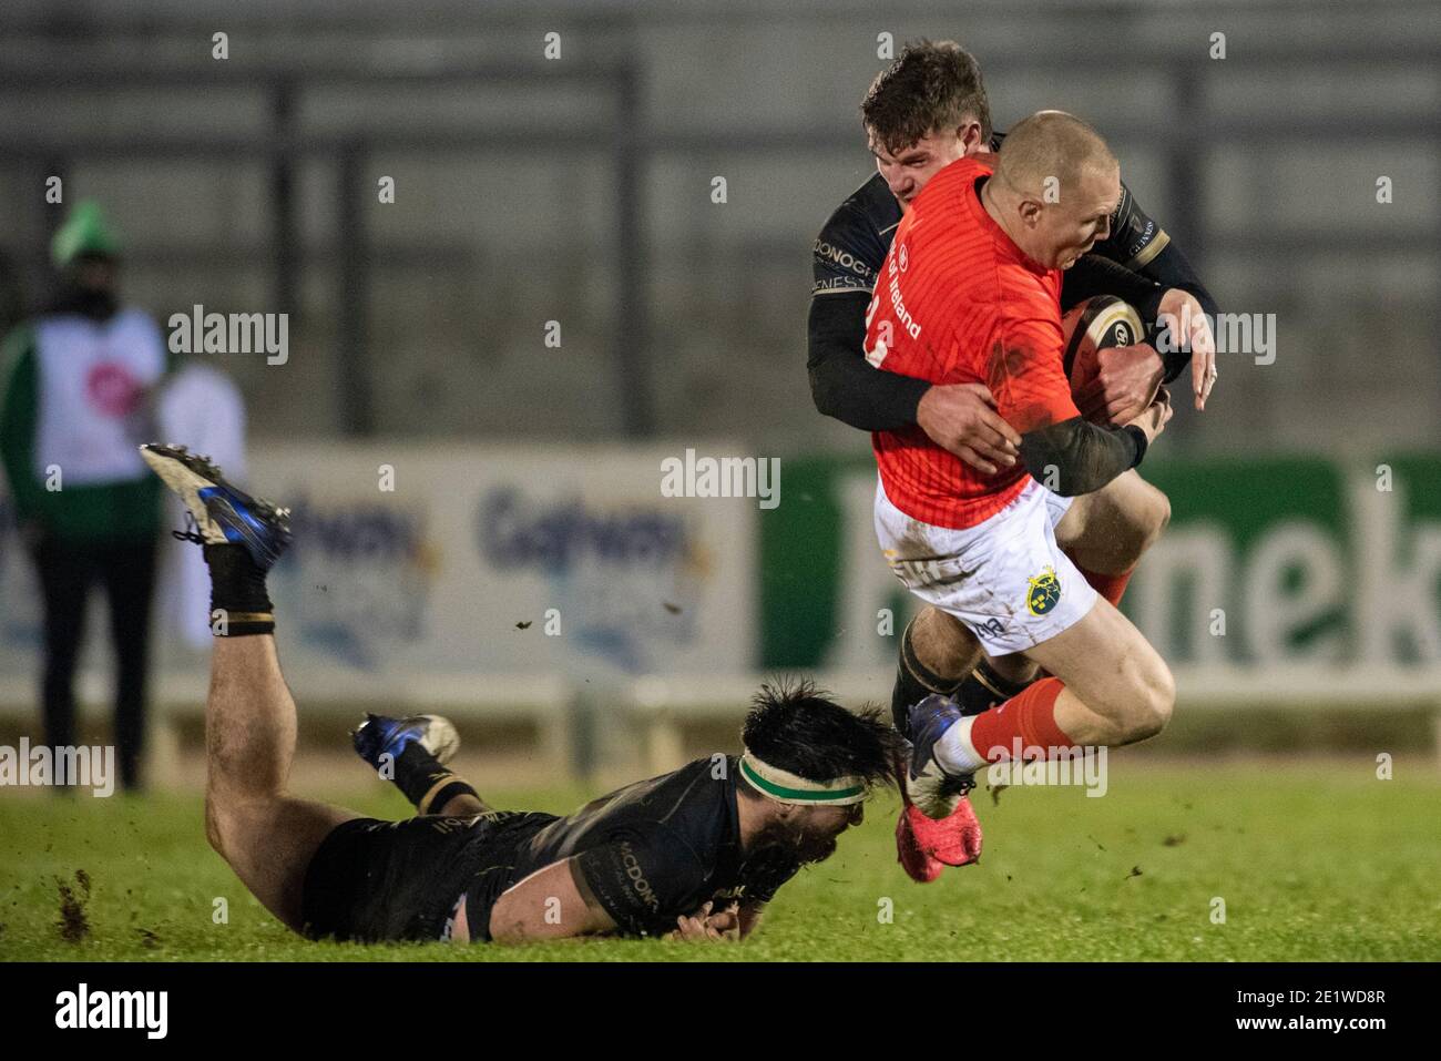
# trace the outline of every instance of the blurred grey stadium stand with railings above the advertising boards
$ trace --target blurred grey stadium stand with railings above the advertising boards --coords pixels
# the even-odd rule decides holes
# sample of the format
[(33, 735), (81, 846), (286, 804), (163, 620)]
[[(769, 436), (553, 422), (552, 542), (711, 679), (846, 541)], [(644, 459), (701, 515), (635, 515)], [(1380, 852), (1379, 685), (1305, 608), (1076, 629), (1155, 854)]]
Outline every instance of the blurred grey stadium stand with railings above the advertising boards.
[[(40, 259), (55, 212), (23, 205), (62, 173), (114, 205), (151, 310), (291, 311), (291, 372), (231, 366), (261, 440), (855, 447), (806, 391), (807, 254), (870, 173), (882, 32), (964, 42), (999, 127), (1092, 120), (1222, 307), (1281, 314), (1277, 365), (1238, 359), (1177, 448), (1435, 440), (1434, 3), (16, 0), (6, 23), (4, 249)], [(393, 206), (339, 193), (380, 176)]]

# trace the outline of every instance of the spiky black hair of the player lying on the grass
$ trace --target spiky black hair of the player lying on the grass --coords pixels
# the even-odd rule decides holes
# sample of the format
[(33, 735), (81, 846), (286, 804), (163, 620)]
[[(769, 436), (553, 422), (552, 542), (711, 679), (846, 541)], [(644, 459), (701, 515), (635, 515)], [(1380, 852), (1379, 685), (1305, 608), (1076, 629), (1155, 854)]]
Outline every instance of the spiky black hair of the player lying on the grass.
[(774, 679), (751, 699), (741, 740), (757, 757), (810, 781), (853, 774), (866, 784), (892, 784), (901, 734), (880, 708), (846, 711), (807, 679)]

